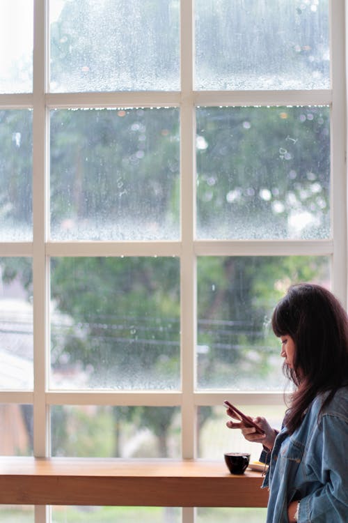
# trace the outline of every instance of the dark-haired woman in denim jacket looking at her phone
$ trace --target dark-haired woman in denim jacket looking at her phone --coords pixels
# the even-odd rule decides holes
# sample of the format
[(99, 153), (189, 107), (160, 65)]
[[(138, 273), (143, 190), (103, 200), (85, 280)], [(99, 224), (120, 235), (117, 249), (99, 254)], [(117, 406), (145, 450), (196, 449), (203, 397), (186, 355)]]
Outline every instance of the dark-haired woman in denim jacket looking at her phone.
[(263, 461), (270, 454), (262, 485), (270, 490), (267, 523), (347, 523), (347, 314), (323, 287), (294, 285), (276, 306), (272, 327), (295, 385), (283, 429), (262, 417), (254, 418), (261, 437), (244, 423), (227, 425), (262, 443)]

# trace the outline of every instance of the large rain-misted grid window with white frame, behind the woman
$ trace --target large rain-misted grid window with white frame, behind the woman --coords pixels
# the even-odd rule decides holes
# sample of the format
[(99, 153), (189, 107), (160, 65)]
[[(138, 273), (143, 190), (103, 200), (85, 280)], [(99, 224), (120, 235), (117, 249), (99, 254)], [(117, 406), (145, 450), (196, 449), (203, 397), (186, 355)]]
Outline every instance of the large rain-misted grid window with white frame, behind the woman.
[(347, 302), (344, 7), (1, 2), (1, 453), (222, 459), (226, 397), (280, 423), (276, 301)]

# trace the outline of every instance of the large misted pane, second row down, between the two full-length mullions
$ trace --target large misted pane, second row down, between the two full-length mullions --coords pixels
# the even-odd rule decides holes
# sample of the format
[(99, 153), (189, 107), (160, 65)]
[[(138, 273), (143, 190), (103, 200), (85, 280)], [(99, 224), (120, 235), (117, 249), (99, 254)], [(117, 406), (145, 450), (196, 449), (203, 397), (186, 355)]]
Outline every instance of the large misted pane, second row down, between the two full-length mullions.
[(179, 237), (179, 111), (51, 112), (54, 239)]

